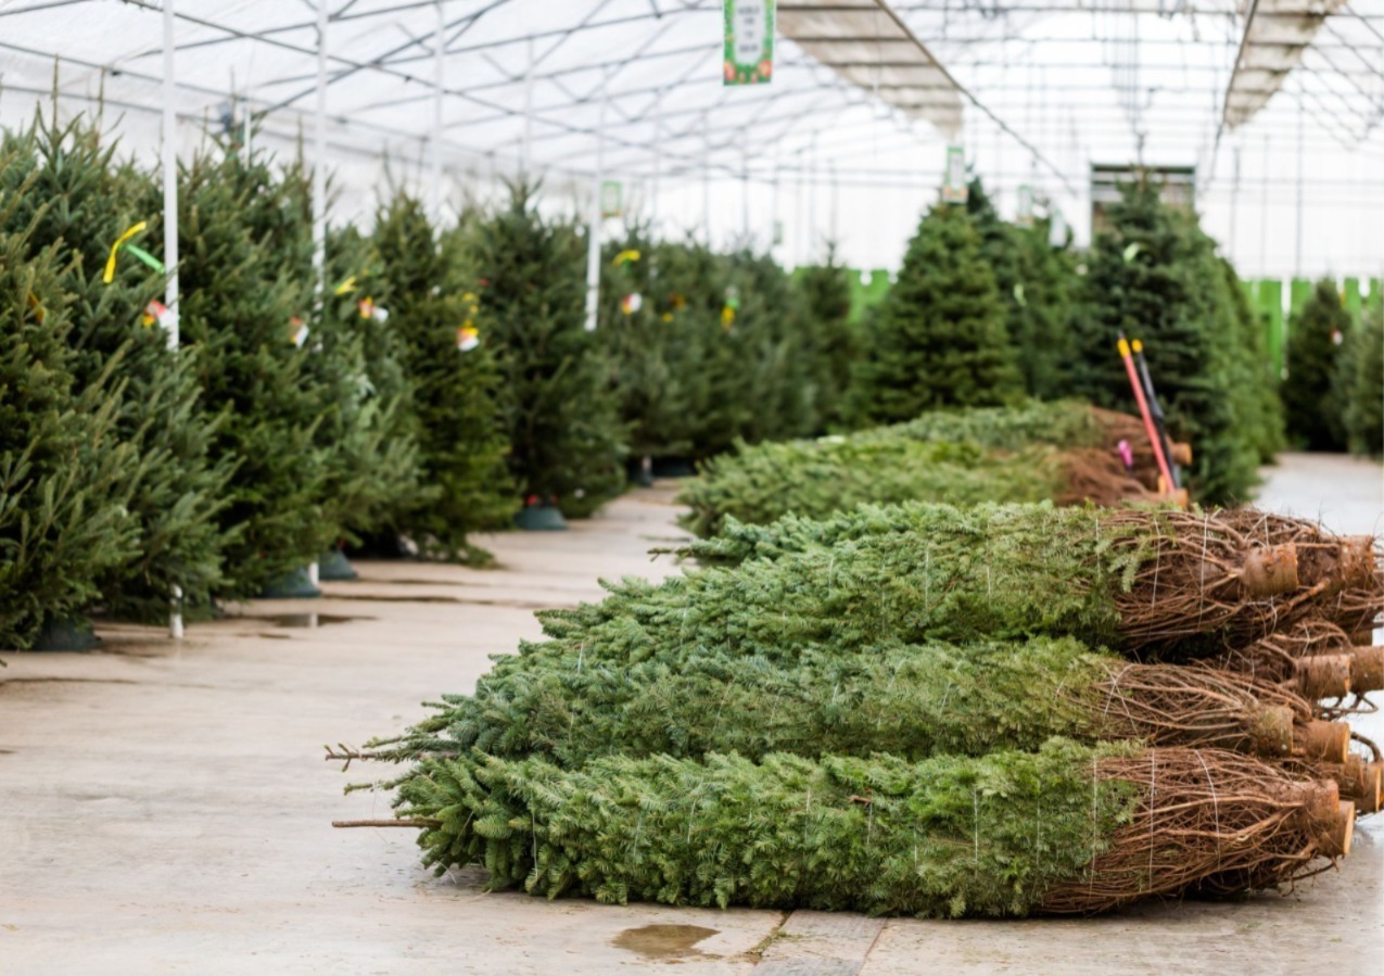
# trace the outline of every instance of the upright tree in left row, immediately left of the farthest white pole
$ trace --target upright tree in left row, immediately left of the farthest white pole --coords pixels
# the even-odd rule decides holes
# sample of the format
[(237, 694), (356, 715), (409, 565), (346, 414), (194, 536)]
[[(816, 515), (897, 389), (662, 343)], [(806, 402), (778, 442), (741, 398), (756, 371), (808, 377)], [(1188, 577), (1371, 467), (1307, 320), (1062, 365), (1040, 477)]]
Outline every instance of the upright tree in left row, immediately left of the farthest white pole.
[(473, 222), (471, 238), (477, 323), (501, 350), (509, 469), (523, 496), (590, 515), (624, 485), (624, 428), (609, 367), (585, 331), (581, 235), (540, 215), (533, 188), (518, 184), (507, 205)]

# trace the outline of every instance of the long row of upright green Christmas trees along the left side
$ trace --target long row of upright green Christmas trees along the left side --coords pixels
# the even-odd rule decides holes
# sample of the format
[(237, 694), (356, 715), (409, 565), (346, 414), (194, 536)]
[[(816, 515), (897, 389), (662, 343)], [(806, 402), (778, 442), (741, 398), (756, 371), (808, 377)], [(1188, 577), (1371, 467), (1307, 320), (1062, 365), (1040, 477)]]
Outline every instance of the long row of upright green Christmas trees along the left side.
[(259, 595), (343, 540), (483, 561), (526, 501), (616, 494), (631, 446), (812, 433), (844, 388), (844, 307), (750, 252), (613, 246), (587, 332), (583, 233), (526, 186), (450, 227), (399, 194), (321, 273), (302, 161), (208, 145), (179, 208), (170, 349), (159, 179), (91, 119), (3, 136), (0, 647)]

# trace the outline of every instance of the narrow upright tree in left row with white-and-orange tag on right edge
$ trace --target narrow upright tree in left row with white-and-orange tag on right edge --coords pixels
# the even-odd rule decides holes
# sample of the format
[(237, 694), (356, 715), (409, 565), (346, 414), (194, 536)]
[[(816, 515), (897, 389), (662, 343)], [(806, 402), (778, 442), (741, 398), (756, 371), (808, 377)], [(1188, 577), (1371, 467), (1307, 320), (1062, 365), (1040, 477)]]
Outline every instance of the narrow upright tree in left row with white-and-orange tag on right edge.
[[(455, 558), (483, 554), (468, 533), (500, 527), (518, 508), (505, 467), (504, 418), (495, 335), (479, 324), (477, 285), (465, 281), (422, 204), (397, 195), (375, 220), (374, 246), (381, 262), (376, 298), (389, 310), (383, 325), (371, 324), (372, 354), (386, 335), (415, 386), (411, 410), (422, 446), (422, 482), (429, 496), (403, 498), (389, 525)], [(448, 245), (450, 246), (450, 245)], [(458, 331), (479, 324), (480, 345), (462, 349)]]

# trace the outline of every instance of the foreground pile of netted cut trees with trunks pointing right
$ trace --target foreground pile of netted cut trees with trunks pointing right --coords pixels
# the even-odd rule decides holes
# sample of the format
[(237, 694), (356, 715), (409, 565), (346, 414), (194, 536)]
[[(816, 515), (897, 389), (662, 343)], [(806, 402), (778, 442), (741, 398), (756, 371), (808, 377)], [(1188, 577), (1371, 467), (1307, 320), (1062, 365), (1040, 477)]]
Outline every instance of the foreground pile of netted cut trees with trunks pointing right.
[(890, 914), (1093, 912), (1348, 853), (1380, 757), (1372, 539), (1258, 512), (862, 507), (541, 615), (343, 759), (493, 887)]

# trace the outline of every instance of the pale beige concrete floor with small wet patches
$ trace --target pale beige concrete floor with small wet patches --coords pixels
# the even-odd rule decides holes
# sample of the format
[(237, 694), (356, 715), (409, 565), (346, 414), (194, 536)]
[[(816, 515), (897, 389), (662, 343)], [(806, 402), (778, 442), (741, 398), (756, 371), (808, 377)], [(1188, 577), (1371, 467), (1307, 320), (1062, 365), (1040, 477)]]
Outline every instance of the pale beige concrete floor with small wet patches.
[[(1264, 501), (1369, 532), (1377, 465), (1286, 457)], [(0, 973), (1301, 973), (1380, 972), (1384, 831), (1290, 897), (1146, 905), (1086, 921), (887, 922), (627, 908), (482, 893), (418, 868), (411, 832), (340, 788), (360, 743), (466, 691), (531, 611), (660, 576), (666, 489), (565, 534), (487, 541), (498, 570), (367, 563), (313, 602), (256, 602), (181, 644), (102, 630), (104, 652), (4, 655)], [(316, 624), (316, 626), (311, 626)], [(368, 771), (365, 772), (368, 775)]]

